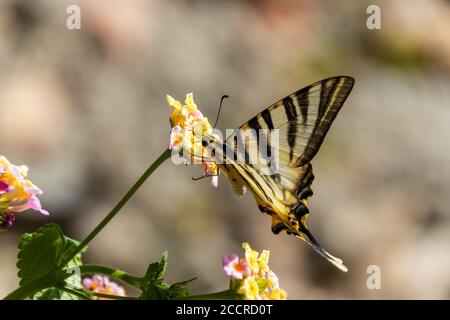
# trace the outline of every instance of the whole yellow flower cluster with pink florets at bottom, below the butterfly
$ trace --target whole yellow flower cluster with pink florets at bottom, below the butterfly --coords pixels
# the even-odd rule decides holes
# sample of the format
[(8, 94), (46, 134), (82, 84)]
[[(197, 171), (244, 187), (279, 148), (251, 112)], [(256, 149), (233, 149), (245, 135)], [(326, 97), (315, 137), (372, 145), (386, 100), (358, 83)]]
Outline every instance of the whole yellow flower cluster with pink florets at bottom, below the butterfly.
[(279, 287), (276, 274), (269, 268), (270, 252), (253, 250), (242, 244), (245, 258), (232, 254), (223, 257), (223, 269), (230, 277), (230, 289), (244, 300), (286, 300), (287, 293)]

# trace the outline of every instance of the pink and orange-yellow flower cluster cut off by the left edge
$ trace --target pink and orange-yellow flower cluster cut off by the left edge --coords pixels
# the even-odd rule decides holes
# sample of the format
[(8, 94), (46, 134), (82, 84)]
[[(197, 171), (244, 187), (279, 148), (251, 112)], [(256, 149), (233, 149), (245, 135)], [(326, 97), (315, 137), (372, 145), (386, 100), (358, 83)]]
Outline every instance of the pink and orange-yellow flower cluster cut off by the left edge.
[(13, 225), (16, 212), (32, 209), (48, 215), (37, 198), (42, 190), (25, 179), (27, 175), (27, 166), (14, 165), (0, 156), (0, 229)]

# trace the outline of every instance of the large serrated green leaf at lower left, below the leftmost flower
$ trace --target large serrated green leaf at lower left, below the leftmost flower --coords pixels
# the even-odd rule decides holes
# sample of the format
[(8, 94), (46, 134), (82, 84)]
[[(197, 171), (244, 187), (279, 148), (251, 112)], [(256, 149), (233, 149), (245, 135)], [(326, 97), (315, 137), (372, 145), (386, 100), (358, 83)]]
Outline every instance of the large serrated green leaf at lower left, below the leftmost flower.
[(64, 235), (56, 224), (23, 234), (17, 262), (19, 284), (22, 286), (55, 272), (64, 246)]

